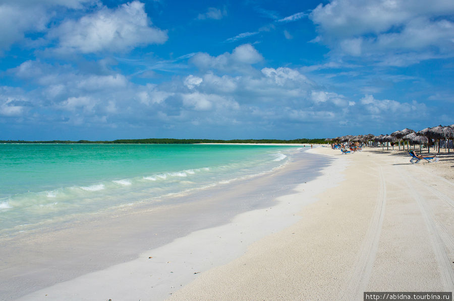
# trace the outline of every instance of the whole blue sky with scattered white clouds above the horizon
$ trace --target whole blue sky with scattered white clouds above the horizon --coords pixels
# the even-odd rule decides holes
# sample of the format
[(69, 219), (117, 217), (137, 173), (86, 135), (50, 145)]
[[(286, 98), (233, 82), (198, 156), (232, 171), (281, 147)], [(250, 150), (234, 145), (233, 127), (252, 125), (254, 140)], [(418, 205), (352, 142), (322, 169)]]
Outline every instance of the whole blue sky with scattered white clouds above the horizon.
[(454, 123), (452, 0), (0, 0), (0, 139)]

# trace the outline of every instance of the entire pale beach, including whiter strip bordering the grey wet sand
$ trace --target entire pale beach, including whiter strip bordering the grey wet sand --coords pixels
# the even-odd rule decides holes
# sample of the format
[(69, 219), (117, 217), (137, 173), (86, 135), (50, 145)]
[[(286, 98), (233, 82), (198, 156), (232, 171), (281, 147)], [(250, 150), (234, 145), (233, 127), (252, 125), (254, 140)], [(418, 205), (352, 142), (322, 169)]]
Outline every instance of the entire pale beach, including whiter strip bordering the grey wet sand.
[(362, 300), (364, 291), (454, 290), (452, 157), (415, 165), (373, 148), (310, 152), (329, 166), (269, 207), (19, 300)]

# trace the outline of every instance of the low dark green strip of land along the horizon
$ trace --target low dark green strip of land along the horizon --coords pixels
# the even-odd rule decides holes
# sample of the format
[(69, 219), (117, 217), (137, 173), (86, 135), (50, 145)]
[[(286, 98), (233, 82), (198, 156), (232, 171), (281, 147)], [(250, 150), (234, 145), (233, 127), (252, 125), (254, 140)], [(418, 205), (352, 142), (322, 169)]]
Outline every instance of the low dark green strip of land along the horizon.
[(105, 144), (198, 144), (198, 143), (326, 143), (324, 138), (316, 139), (233, 139), (233, 140), (213, 140), (213, 139), (172, 139), (172, 138), (149, 138), (149, 139), (118, 139), (113, 141), (90, 141), (90, 140), (52, 140), (52, 141), (25, 141), (25, 140), (0, 140), (0, 143), (105, 143)]

